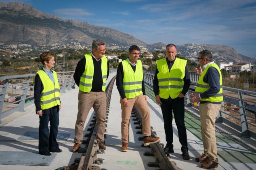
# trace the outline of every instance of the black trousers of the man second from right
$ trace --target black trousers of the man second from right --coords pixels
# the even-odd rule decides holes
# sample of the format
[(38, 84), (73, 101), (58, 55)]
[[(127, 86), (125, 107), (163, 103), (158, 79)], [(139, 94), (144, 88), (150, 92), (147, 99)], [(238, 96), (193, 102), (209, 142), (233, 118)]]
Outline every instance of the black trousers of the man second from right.
[(185, 127), (185, 104), (184, 98), (161, 98), (161, 109), (164, 118), (164, 131), (166, 135), (167, 146), (171, 146), (173, 142), (173, 131), (172, 131), (172, 112), (174, 120), (178, 129), (178, 139), (181, 144), (181, 151), (188, 150), (187, 147), (187, 131)]

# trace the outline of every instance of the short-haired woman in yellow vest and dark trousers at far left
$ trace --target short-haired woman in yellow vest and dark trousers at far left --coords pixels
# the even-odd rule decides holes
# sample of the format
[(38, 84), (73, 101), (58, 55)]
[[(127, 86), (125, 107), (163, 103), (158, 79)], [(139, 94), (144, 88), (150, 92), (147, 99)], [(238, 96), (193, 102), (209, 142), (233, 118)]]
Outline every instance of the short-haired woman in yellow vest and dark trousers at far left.
[[(62, 152), (57, 143), (59, 126), (60, 87), (54, 67), (54, 55), (44, 52), (40, 55), (43, 64), (34, 80), (36, 114), (39, 115), (39, 154), (50, 156), (50, 152)], [(50, 134), (48, 124), (50, 121)]]

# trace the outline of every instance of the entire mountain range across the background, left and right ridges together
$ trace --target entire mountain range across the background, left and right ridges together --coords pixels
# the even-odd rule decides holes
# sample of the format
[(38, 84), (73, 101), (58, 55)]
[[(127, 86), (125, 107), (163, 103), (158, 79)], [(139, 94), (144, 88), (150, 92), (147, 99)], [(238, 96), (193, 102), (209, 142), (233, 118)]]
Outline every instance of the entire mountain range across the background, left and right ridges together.
[[(153, 52), (165, 50), (166, 47), (161, 42), (148, 45), (130, 34), (115, 29), (76, 20), (64, 20), (19, 2), (0, 2), (0, 44), (25, 43), (37, 46), (78, 42), (90, 47), (93, 39), (103, 39), (109, 49), (128, 49), (130, 45), (136, 44), (142, 51)], [(212, 51), (216, 62), (256, 62), (256, 59), (241, 55), (227, 45), (177, 45), (178, 53), (192, 61), (197, 61), (199, 51), (203, 49)]]

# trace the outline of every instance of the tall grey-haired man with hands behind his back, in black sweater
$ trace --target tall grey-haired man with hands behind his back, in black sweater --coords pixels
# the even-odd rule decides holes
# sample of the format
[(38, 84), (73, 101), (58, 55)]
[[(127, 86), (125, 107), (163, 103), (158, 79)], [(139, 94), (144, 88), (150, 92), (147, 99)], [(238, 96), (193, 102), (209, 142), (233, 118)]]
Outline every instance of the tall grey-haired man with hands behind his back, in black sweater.
[(106, 149), (104, 132), (106, 124), (106, 80), (109, 75), (109, 63), (105, 57), (105, 42), (96, 39), (92, 42), (92, 52), (78, 61), (74, 80), (79, 86), (78, 115), (75, 127), (75, 139), (72, 152), (77, 152), (83, 139), (84, 122), (93, 107), (97, 119), (97, 142), (99, 148)]

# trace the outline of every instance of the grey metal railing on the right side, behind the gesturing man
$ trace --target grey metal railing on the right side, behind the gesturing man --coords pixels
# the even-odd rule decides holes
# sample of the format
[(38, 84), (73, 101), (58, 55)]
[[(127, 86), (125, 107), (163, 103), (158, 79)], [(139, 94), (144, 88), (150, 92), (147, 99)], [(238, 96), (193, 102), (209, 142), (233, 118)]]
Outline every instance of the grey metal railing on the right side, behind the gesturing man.
[[(144, 71), (144, 81), (153, 87), (154, 74)], [(190, 72), (191, 86), (185, 95), (187, 107), (194, 107), (199, 115), (198, 105), (190, 102), (199, 76)], [(223, 102), (216, 123), (227, 123), (241, 132), (241, 136), (256, 138), (256, 92), (223, 86)]]

